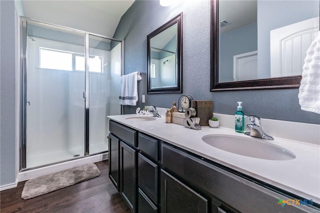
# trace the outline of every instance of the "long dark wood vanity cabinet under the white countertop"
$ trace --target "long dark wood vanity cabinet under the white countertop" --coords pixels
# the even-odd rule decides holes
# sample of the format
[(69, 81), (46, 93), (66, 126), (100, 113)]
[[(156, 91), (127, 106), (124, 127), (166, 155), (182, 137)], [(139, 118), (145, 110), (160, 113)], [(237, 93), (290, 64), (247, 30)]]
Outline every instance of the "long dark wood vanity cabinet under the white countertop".
[(132, 212), (319, 212), (285, 191), (110, 121), (109, 177)]

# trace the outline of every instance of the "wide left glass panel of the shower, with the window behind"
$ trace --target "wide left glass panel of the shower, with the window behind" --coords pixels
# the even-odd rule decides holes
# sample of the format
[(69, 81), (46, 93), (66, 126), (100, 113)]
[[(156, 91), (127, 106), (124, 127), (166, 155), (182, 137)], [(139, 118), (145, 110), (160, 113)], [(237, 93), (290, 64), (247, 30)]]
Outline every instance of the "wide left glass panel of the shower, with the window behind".
[(85, 34), (29, 20), (23, 30), (24, 167), (83, 156), (85, 73), (77, 58), (84, 57)]

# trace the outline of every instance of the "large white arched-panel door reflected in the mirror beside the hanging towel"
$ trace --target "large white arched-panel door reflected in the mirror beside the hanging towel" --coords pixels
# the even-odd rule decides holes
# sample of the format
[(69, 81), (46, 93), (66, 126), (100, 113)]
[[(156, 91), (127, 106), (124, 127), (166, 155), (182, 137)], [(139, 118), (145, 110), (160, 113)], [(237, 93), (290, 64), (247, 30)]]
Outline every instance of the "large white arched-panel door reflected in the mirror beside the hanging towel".
[(319, 17), (270, 30), (271, 77), (302, 74), (306, 50), (318, 34)]

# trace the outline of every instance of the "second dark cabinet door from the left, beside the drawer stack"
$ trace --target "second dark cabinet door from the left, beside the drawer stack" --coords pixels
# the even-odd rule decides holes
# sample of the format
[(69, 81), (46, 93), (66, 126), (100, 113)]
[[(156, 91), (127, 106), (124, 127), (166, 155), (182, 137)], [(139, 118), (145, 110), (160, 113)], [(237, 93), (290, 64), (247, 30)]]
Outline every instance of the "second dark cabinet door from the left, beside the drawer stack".
[(135, 212), (136, 203), (136, 151), (124, 142), (120, 142), (120, 193)]

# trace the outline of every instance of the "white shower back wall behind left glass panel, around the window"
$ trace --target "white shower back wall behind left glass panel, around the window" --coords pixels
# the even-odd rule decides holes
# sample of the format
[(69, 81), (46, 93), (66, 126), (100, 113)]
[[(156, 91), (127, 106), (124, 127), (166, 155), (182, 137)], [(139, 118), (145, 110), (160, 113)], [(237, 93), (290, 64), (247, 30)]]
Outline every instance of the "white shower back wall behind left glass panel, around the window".
[(35, 42), (27, 39), (27, 100), (30, 105), (26, 105), (26, 155), (72, 147), (83, 150), (84, 72), (40, 68), (39, 48), (84, 53), (84, 47), (39, 37), (33, 39)]

